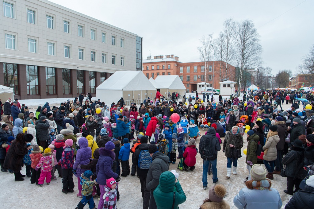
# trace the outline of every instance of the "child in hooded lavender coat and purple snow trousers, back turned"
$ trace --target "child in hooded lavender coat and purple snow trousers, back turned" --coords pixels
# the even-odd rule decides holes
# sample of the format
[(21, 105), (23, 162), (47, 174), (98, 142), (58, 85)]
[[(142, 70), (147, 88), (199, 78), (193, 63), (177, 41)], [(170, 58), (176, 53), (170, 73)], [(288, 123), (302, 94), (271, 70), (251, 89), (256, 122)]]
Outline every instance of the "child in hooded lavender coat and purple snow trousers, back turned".
[(89, 158), (92, 157), (92, 150), (88, 146), (88, 140), (85, 137), (81, 137), (78, 140), (79, 149), (76, 153), (75, 162), (73, 164), (73, 173), (78, 178), (78, 197), (82, 196), (82, 185), (80, 184), (81, 174), (86, 171), (82, 169), (81, 165), (87, 165), (89, 163)]

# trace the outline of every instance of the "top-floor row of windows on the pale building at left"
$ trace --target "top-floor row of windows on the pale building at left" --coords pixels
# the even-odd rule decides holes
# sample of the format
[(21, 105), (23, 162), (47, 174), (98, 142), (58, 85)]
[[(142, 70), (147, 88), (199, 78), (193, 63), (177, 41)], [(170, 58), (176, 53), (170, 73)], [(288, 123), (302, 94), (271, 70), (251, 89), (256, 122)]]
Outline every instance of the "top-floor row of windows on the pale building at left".
[[(26, 9), (26, 21), (31, 24), (37, 24), (36, 20), (36, 11), (27, 8)], [(15, 18), (14, 14), (14, 4), (3, 1), (3, 15), (10, 18)], [(46, 23), (47, 28), (55, 29), (55, 17), (52, 15), (46, 15)], [(71, 33), (71, 22), (68, 20), (63, 20), (63, 32)], [(78, 36), (84, 37), (84, 25), (78, 24)], [(96, 29), (90, 29), (90, 39), (96, 41)], [(101, 42), (106, 43), (107, 41), (107, 33), (101, 32)], [(120, 47), (124, 48), (125, 39), (120, 38)], [(116, 36), (111, 36), (111, 45), (116, 46)]]

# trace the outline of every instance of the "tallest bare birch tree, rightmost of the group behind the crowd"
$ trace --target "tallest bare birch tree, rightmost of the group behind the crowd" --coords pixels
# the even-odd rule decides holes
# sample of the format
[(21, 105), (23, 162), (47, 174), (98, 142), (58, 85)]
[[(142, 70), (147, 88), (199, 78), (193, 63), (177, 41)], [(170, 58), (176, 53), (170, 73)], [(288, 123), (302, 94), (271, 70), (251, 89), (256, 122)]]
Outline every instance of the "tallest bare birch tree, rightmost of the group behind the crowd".
[(233, 31), (235, 59), (240, 68), (238, 91), (241, 91), (243, 71), (260, 65), (262, 46), (252, 20), (244, 19), (241, 22), (236, 22)]

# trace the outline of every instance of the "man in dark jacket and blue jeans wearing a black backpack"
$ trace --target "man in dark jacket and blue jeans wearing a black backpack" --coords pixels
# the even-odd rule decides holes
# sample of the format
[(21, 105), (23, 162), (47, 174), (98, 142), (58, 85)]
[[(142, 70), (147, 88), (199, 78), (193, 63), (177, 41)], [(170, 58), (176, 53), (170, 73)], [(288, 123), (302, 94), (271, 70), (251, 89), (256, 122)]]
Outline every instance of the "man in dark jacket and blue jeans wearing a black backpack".
[(207, 188), (207, 171), (209, 163), (213, 168), (213, 184), (218, 182), (217, 178), (217, 156), (218, 151), (220, 151), (220, 143), (216, 137), (216, 131), (214, 127), (209, 127), (207, 134), (203, 135), (199, 145), (198, 150), (203, 159), (203, 189)]

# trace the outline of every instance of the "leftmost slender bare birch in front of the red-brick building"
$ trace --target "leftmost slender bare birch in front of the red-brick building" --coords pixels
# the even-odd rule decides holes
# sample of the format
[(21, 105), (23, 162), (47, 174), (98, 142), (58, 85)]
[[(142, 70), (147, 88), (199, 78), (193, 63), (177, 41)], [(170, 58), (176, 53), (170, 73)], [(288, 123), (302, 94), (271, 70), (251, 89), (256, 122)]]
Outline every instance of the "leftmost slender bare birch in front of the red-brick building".
[[(200, 39), (200, 42), (201, 42), (201, 46), (197, 47), (197, 49), (200, 54), (199, 56), (200, 60), (204, 62), (205, 64), (205, 87), (206, 87), (206, 79), (207, 79), (206, 73), (208, 71), (208, 62), (209, 62), (209, 59), (211, 57), (211, 52), (212, 52), (211, 44), (213, 44), (213, 35), (208, 34), (207, 37), (203, 36)], [(212, 86), (212, 88), (214, 88), (214, 86)]]

